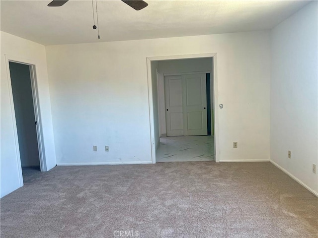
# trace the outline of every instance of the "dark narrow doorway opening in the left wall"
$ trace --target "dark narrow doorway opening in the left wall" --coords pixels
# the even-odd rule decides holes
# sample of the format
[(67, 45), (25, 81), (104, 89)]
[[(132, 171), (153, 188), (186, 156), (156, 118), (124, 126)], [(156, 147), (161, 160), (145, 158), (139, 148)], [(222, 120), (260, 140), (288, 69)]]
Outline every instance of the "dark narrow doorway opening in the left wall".
[(22, 173), (42, 171), (34, 65), (8, 61)]

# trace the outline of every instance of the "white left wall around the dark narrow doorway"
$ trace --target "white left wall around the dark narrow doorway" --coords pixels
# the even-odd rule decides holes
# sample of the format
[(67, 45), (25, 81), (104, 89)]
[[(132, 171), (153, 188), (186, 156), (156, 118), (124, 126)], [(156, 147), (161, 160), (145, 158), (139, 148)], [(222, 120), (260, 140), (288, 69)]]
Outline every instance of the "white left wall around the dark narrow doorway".
[(54, 136), (51, 117), (50, 94), (44, 46), (1, 31), (1, 197), (21, 186), (18, 157), (15, 150), (13, 118), (9, 98), (9, 80), (6, 74), (5, 54), (14, 59), (32, 60), (36, 63), (37, 87), (40, 102), (46, 167), (56, 165)]

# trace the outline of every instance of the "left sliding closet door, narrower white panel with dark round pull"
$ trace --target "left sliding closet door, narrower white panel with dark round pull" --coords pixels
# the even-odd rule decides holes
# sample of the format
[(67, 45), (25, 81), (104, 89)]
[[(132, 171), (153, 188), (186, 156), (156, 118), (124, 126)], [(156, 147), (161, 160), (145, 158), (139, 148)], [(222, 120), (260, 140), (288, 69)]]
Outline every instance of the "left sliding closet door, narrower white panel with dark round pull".
[(164, 76), (167, 136), (183, 135), (182, 77)]

